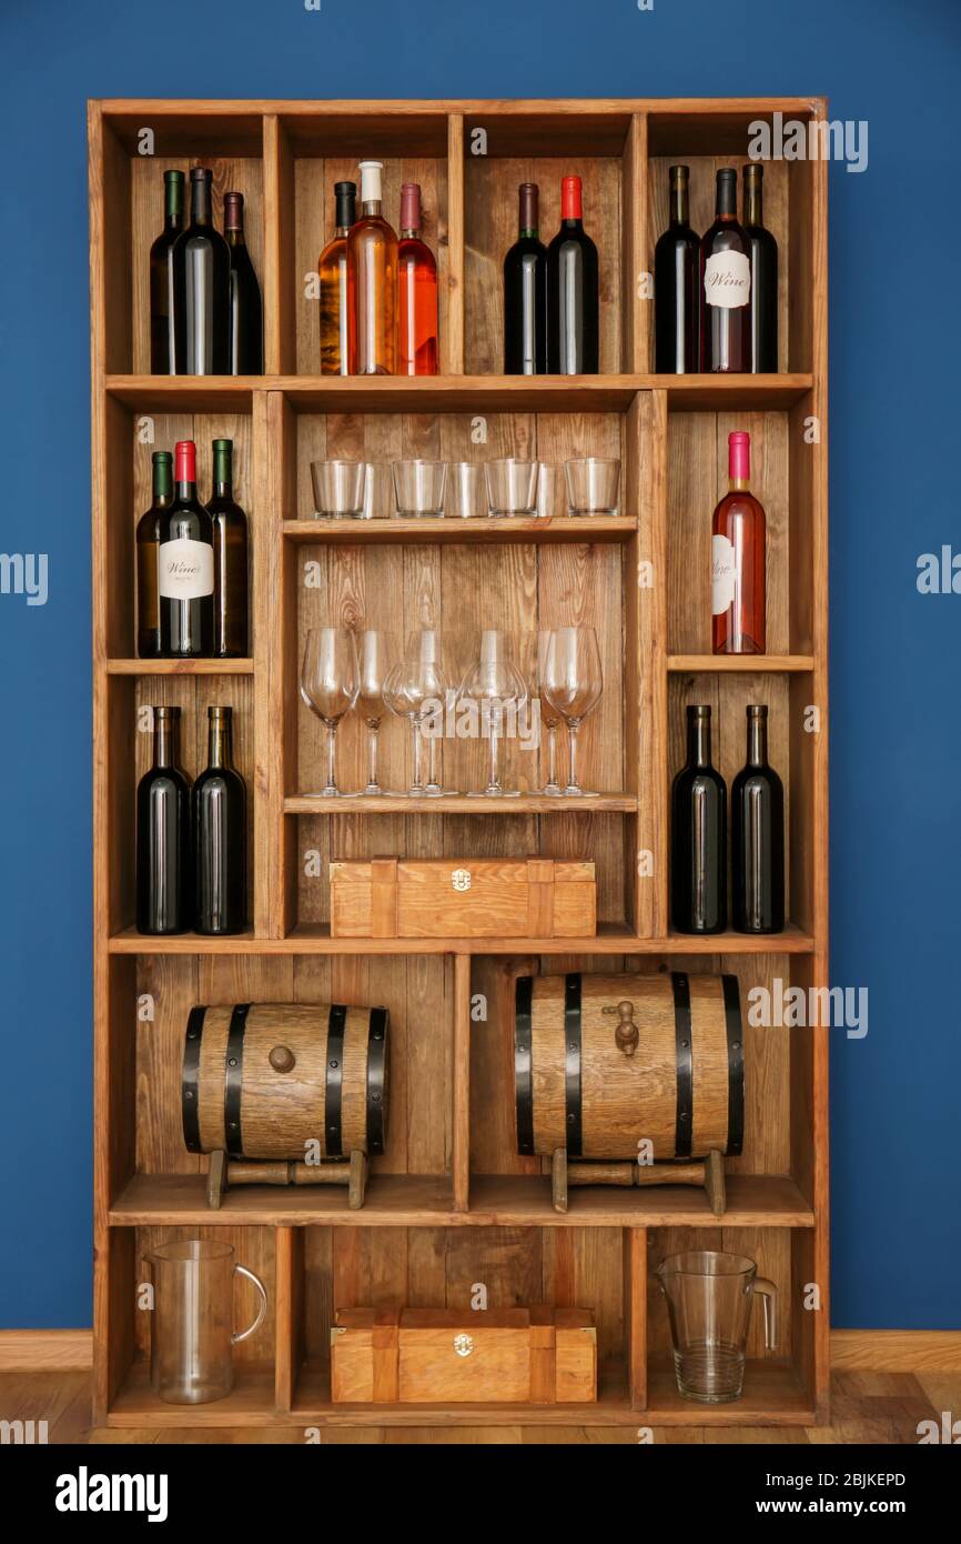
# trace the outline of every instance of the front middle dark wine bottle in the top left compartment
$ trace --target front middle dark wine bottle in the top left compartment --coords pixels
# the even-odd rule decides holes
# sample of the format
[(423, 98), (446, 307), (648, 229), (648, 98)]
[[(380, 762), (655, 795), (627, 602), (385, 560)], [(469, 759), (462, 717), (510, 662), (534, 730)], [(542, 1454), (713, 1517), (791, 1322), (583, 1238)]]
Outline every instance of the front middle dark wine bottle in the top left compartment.
[(230, 250), (213, 229), (213, 173), (190, 173), (190, 225), (173, 249), (177, 375), (230, 375)]

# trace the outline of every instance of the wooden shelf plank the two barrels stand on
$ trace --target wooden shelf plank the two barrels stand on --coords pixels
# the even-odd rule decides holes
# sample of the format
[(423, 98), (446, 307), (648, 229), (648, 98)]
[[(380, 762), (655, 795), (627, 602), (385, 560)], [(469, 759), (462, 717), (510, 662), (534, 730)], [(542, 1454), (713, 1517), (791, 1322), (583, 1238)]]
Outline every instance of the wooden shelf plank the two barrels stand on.
[[(788, 1175), (727, 1180), (725, 1227), (813, 1227), (814, 1214)], [(457, 1210), (447, 1175), (375, 1173), (359, 1212), (339, 1186), (241, 1186), (219, 1210), (199, 1173), (134, 1175), (110, 1210), (111, 1227), (713, 1227), (703, 1190), (594, 1186), (555, 1212), (548, 1175), (472, 1175), (467, 1210)]]

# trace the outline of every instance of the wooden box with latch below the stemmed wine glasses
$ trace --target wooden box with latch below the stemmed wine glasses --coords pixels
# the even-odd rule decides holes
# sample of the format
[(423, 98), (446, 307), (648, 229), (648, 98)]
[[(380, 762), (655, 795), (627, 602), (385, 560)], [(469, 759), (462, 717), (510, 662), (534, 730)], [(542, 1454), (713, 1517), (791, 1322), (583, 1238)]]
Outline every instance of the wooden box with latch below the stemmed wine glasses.
[(594, 863), (373, 858), (330, 865), (335, 939), (589, 939)]

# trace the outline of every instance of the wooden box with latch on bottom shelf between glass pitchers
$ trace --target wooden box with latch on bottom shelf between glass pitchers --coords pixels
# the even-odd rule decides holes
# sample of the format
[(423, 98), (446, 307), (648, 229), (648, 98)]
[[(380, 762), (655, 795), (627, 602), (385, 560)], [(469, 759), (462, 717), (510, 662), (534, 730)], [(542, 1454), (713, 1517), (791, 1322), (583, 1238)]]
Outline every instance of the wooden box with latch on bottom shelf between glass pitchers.
[(582, 1308), (347, 1308), (330, 1331), (335, 1403), (591, 1403), (597, 1329)]

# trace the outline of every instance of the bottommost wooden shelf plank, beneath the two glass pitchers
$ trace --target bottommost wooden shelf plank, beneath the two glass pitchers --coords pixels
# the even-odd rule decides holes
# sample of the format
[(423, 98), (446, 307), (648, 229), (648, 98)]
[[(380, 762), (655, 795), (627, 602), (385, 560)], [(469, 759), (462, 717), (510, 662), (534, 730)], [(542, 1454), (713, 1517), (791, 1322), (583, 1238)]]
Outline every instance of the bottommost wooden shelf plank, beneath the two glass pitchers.
[(646, 1410), (631, 1407), (622, 1362), (600, 1370), (597, 1402), (583, 1405), (333, 1405), (327, 1374), (307, 1363), (293, 1405), (278, 1410), (273, 1374), (241, 1365), (227, 1399), (208, 1405), (168, 1405), (153, 1393), (145, 1362), (134, 1362), (106, 1424), (110, 1427), (744, 1427), (814, 1425), (814, 1410), (793, 1368), (748, 1362), (744, 1396), (730, 1405), (700, 1405), (677, 1393), (673, 1368), (659, 1363), (648, 1385)]

